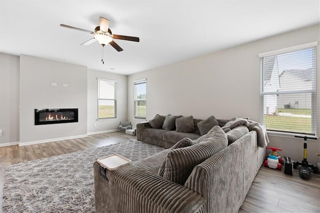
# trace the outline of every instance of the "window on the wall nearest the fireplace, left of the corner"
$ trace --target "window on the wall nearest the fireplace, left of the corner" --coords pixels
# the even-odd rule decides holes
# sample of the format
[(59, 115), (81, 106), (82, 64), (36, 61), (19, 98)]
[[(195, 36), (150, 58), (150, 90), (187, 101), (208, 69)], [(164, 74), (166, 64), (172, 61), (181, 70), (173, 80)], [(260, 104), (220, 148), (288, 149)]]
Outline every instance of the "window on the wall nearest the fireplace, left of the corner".
[(97, 78), (98, 119), (116, 117), (116, 81)]

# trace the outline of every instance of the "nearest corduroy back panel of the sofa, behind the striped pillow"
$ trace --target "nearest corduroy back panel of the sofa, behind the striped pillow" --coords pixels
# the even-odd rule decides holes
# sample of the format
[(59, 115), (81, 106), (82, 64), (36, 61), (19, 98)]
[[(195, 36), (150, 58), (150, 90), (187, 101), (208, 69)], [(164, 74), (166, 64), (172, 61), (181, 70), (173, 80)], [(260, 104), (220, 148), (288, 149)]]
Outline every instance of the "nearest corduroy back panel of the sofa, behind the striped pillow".
[(207, 199), (204, 212), (237, 212), (243, 201), (243, 145), (235, 141), (196, 165), (184, 185)]

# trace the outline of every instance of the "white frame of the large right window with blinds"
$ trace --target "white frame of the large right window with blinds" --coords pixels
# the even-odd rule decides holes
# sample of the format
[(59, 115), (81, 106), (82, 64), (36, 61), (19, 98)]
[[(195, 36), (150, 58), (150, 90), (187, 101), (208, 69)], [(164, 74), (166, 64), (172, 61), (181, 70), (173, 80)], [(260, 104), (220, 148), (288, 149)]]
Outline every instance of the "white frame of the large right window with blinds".
[[(289, 52), (293, 52), (293, 51), (298, 51), (298, 50), (302, 50), (302, 49), (307, 49), (307, 48), (314, 48), (314, 69), (315, 69), (315, 83), (314, 83), (314, 87), (312, 87), (312, 89), (305, 89), (303, 90), (303, 92), (295, 90), (295, 91), (290, 91), (290, 90), (286, 90), (286, 91), (263, 91), (263, 59), (264, 57), (267, 56), (276, 56), (278, 54), (282, 54), (282, 53), (289, 53)], [(317, 61), (316, 61), (316, 55), (317, 55), (317, 41), (313, 41), (310, 43), (305, 43), (305, 44), (301, 44), (301, 45), (295, 45), (295, 46), (291, 46), (291, 47), (287, 47), (287, 48), (282, 48), (282, 49), (278, 49), (278, 50), (273, 50), (273, 51), (268, 51), (268, 52), (264, 52), (264, 53), (260, 53), (259, 55), (259, 64), (260, 64), (260, 102), (259, 102), (259, 106), (260, 106), (260, 123), (264, 124), (264, 96), (268, 95), (268, 94), (290, 94), (290, 93), (307, 93), (310, 92), (311, 93), (311, 133), (305, 133), (305, 132), (296, 132), (296, 131), (285, 131), (285, 130), (274, 130), (274, 129), (268, 129), (266, 128), (268, 133), (271, 133), (273, 135), (313, 135), (316, 136), (316, 108), (317, 106), (317, 101), (316, 101), (316, 83), (317, 83), (317, 79), (316, 79), (316, 71), (317, 71)], [(314, 104), (312, 104), (314, 102)]]

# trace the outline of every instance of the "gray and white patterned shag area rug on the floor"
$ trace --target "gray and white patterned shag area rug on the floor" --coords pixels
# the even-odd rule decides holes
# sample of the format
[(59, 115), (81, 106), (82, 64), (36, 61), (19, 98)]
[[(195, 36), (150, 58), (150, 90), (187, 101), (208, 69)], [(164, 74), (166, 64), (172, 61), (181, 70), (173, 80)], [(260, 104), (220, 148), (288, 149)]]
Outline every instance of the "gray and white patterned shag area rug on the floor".
[(112, 153), (133, 162), (164, 148), (128, 140), (5, 168), (3, 212), (94, 212), (93, 163)]

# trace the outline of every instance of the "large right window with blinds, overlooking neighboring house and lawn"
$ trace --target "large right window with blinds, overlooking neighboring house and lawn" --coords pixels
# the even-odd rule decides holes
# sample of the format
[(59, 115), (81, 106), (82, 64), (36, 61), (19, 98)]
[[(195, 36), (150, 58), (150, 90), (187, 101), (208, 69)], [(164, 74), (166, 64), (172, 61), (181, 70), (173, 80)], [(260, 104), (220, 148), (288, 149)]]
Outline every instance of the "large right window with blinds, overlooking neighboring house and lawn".
[(259, 54), (260, 122), (267, 130), (315, 135), (316, 44)]

